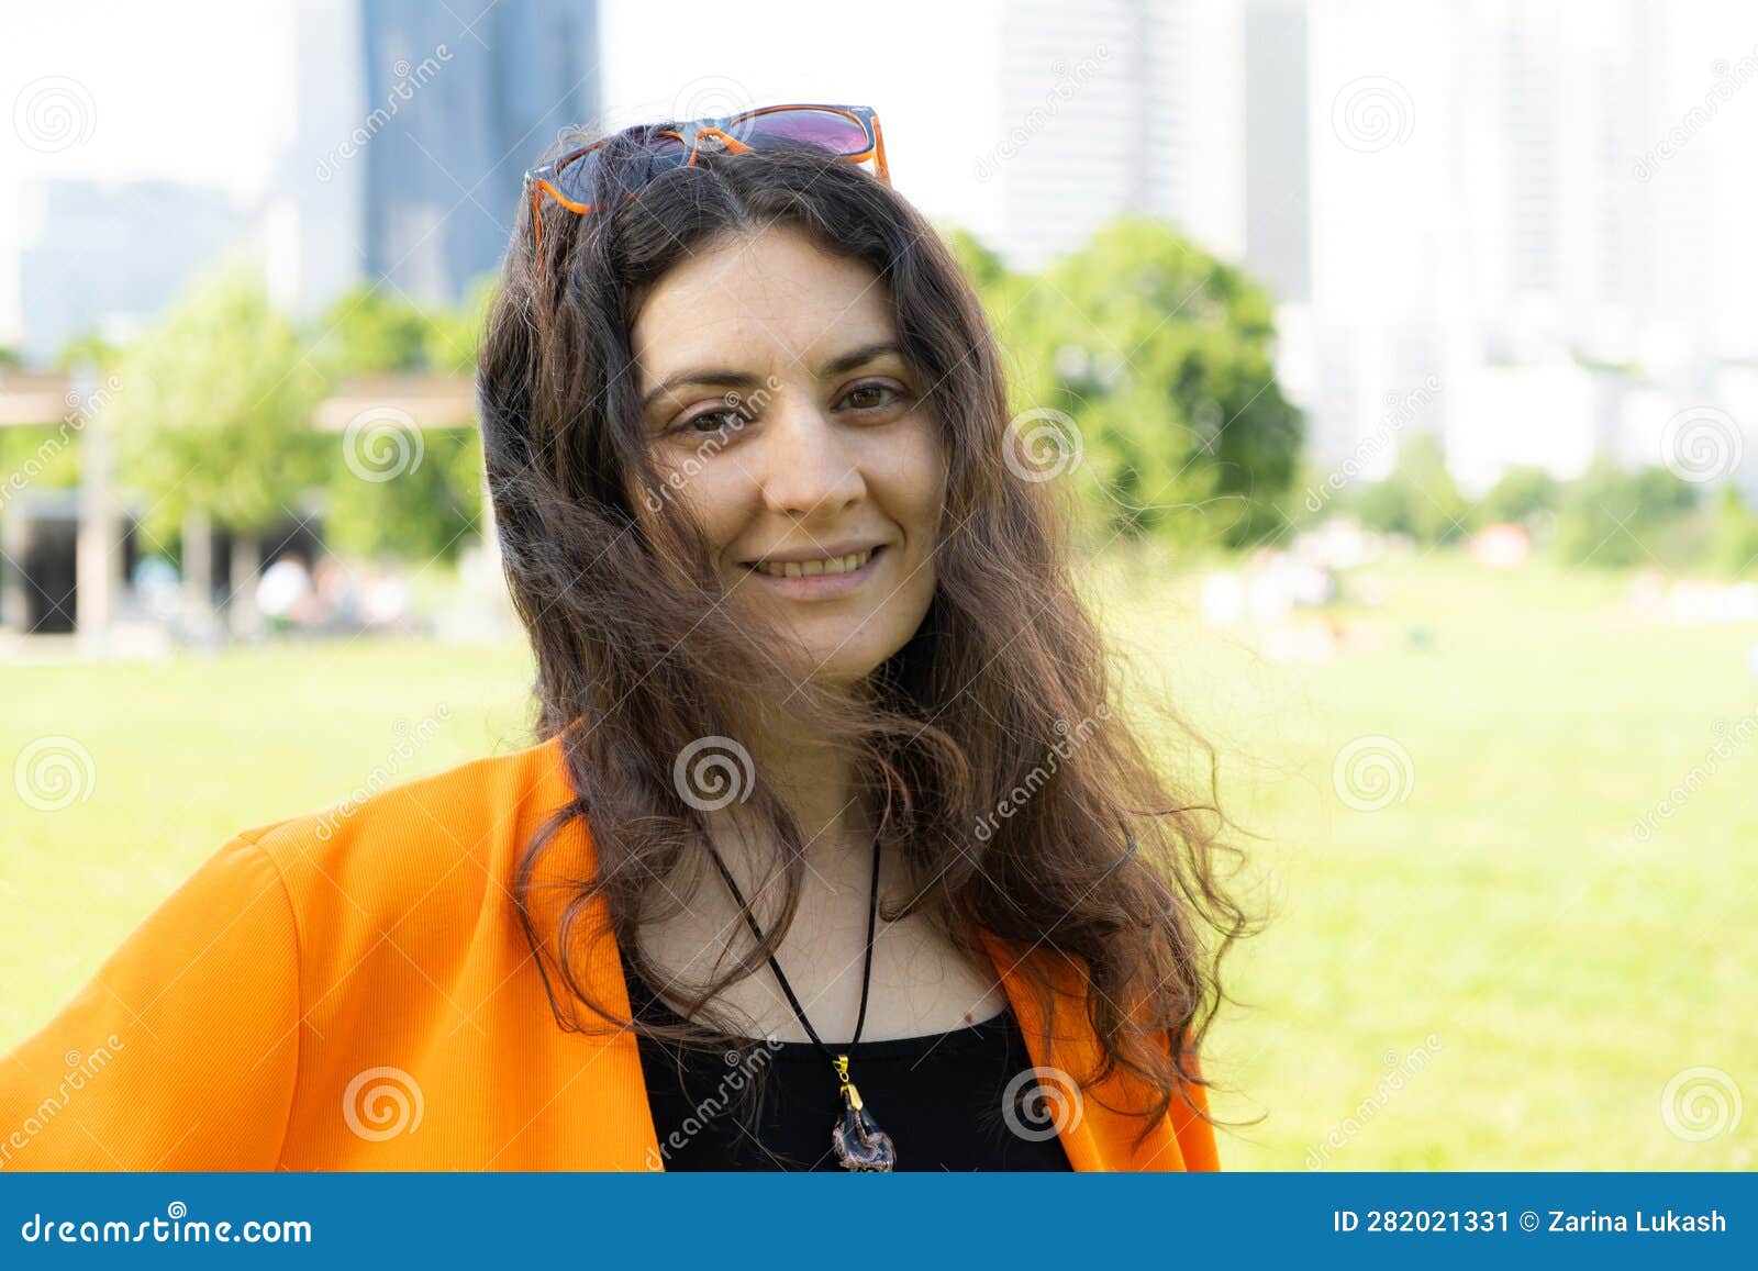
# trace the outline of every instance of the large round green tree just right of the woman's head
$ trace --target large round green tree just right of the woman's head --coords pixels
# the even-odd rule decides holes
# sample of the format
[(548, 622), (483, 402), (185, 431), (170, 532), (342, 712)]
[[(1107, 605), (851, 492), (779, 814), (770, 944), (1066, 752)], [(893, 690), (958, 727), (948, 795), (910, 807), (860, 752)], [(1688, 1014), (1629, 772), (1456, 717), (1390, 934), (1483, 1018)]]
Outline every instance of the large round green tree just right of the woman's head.
[(1264, 288), (1148, 216), (1113, 220), (1035, 278), (949, 241), (995, 323), (1014, 411), (1072, 420), (1099, 541), (1239, 547), (1282, 529), (1304, 429), (1276, 383)]

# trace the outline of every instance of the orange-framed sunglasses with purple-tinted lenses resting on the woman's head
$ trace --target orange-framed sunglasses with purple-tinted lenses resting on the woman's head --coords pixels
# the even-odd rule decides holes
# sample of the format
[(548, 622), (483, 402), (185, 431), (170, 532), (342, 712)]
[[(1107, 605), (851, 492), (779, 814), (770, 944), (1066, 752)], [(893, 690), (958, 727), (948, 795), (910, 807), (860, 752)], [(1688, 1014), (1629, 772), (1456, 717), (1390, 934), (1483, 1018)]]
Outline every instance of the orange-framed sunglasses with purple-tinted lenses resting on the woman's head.
[[(891, 185), (891, 171), (884, 160), (884, 134), (879, 132), (879, 116), (870, 105), (759, 105), (738, 114), (687, 123), (640, 125), (526, 172), (531, 232), (538, 248), (543, 246), (543, 195), (571, 213), (598, 211), (591, 202), (598, 153), (617, 137), (629, 135), (635, 135), (647, 151), (647, 179), (673, 167), (689, 167), (701, 153), (703, 141), (710, 141), (735, 155), (805, 144), (851, 163), (870, 158), (879, 179)], [(633, 197), (635, 192), (629, 192), (624, 202)]]

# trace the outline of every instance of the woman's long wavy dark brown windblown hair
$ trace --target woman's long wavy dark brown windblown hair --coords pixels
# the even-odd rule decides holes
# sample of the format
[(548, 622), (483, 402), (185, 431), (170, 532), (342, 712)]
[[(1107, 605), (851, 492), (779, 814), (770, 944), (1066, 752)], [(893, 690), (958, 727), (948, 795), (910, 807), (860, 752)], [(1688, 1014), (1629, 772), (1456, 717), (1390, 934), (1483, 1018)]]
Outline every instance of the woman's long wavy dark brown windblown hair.
[[(552, 153), (584, 141), (564, 137)], [(557, 1021), (584, 1027), (578, 1002), (610, 1025), (675, 1042), (742, 1041), (714, 999), (761, 972), (781, 946), (805, 870), (802, 830), (761, 773), (745, 793), (774, 830), (784, 898), (761, 944), (682, 995), (689, 1027), (622, 1020), (594, 1000), (577, 937), (592, 914), (608, 914), (629, 969), (659, 983), (636, 930), (659, 884), (708, 844), (708, 814), (684, 798), (673, 765), (691, 744), (738, 737), (786, 703), (853, 759), (886, 853), (907, 861), (911, 897), (883, 916), (923, 911), (967, 953), (981, 953), (981, 925), (1072, 958), (1104, 1051), (1090, 1079), (1125, 1069), (1148, 1083), (1144, 1137), (1174, 1097), (1190, 1104), (1187, 1083), (1210, 1085), (1195, 1057), (1224, 999), (1220, 962), (1253, 928), (1220, 877), (1220, 856), (1241, 854), (1220, 837), (1229, 823), (1215, 749), (1160, 707), (1181, 742), (1162, 738), (1160, 752), (1195, 759), (1206, 781), (1197, 796), (1130, 717), (1144, 700), (1134, 691), (1118, 700), (1115, 650), (1071, 573), (1072, 508), (1057, 483), (1021, 480), (1004, 462), (1018, 431), (1002, 360), (969, 280), (926, 220), (868, 172), (819, 151), (705, 153), (659, 174), (649, 162), (633, 130), (614, 137), (592, 178), (594, 202), (612, 211), (575, 214), (545, 200), (541, 250), (533, 209), (520, 211), (478, 371), (505, 571), (536, 652), (536, 735), (564, 735), (577, 791), (524, 847), (513, 886)], [(752, 619), (723, 603), (687, 501), (652, 506), (666, 473), (649, 452), (638, 399), (638, 308), (687, 253), (772, 225), (865, 262), (884, 281), (905, 360), (932, 385), (925, 404), (946, 455), (928, 614), (856, 691), (796, 682), (752, 656)], [(538, 863), (577, 817), (589, 819), (596, 867), (568, 879), (554, 923), (540, 923)], [(1048, 1042), (1057, 995), (1032, 960), (1027, 974)]]

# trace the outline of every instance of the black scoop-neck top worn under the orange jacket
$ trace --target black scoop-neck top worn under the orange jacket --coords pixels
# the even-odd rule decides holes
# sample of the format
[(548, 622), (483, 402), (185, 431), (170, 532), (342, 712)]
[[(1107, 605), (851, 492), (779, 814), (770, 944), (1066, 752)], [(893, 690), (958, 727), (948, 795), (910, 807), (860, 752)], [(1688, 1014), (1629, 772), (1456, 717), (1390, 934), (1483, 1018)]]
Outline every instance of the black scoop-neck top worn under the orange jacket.
[[(635, 1018), (682, 1020), (628, 960), (622, 972)], [(1034, 1097), (1032, 1057), (1011, 1006), (951, 1032), (832, 1049), (847, 1053), (849, 1079), (891, 1136), (898, 1171), (1072, 1169), (1042, 1115), (1044, 1097)], [(842, 1169), (830, 1146), (842, 1095), (812, 1042), (752, 1039), (740, 1053), (642, 1035), (640, 1055), (665, 1169)]]

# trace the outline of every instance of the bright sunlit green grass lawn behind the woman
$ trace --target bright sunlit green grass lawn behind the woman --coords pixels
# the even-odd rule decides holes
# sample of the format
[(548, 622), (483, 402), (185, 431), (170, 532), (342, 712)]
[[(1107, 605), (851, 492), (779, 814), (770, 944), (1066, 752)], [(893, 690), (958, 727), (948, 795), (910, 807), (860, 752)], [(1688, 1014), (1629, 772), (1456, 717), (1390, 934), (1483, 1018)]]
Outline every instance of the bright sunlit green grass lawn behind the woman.
[[(1758, 1167), (1758, 1106), (1702, 1141), (1661, 1108), (1688, 1069), (1758, 1099), (1758, 735), (1730, 731), (1716, 775), (1631, 833), (1716, 721), (1753, 717), (1758, 629), (1642, 622), (1621, 578), (1547, 566), (1371, 577), (1384, 605), (1340, 606), (1343, 650), (1320, 663), (1201, 628), (1197, 571), (1095, 582), (1260, 835), (1238, 840), (1241, 886), (1275, 916), (1229, 962), (1246, 1006), (1206, 1051), (1217, 1113), (1255, 1122), (1224, 1132), (1224, 1166)], [(399, 777), (524, 745), (529, 679), (520, 647), (364, 640), (0, 666), (0, 756), (65, 735), (95, 773), (56, 812), (4, 789), (0, 1051), (230, 833), (341, 800), (441, 705)], [(1338, 795), (1357, 738), (1408, 756), (1405, 798)], [(1688, 1088), (1674, 1123), (1712, 1115)]]

